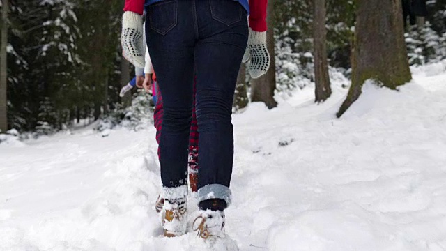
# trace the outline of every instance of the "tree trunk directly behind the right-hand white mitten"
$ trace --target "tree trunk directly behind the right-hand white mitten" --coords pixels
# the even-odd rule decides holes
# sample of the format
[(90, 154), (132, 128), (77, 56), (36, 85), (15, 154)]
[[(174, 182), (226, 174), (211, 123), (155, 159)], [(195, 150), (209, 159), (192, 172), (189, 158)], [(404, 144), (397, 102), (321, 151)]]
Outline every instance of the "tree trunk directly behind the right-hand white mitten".
[(268, 47), (268, 52), (270, 52), (271, 59), (270, 68), (266, 72), (266, 75), (263, 75), (258, 79), (252, 79), (251, 84), (251, 101), (264, 102), (269, 109), (277, 106), (277, 102), (274, 100), (274, 91), (276, 89), (276, 62), (274, 52), (273, 2), (273, 0), (268, 1), (268, 31), (266, 31), (266, 46)]

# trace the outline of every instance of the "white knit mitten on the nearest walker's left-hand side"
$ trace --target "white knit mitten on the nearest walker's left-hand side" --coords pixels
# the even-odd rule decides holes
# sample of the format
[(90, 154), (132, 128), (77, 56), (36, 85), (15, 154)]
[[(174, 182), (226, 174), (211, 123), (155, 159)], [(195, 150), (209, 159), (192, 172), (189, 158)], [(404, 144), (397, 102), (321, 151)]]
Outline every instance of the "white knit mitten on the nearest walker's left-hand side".
[(138, 13), (125, 11), (121, 33), (123, 56), (134, 66), (144, 68), (144, 40), (142, 17)]

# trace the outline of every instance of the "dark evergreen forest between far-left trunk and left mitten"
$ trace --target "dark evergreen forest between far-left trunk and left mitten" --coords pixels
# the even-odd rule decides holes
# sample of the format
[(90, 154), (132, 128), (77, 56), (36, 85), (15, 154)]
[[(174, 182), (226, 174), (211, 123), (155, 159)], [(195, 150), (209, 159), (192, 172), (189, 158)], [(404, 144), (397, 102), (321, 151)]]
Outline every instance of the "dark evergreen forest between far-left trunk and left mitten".
[(47, 133), (114, 108), (122, 5), (117, 0), (10, 1), (10, 128)]

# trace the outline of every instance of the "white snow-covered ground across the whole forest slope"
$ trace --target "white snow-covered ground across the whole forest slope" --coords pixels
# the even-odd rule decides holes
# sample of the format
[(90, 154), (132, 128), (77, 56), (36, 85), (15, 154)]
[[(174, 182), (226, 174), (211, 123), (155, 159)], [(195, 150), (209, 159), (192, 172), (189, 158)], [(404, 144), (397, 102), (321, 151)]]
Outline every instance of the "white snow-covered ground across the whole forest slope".
[[(304, 89), (233, 116), (240, 250), (446, 250), (446, 64), (413, 73), (341, 119), (339, 80), (323, 105)], [(0, 144), (0, 250), (194, 250), (194, 232), (159, 237), (153, 126), (107, 135)]]

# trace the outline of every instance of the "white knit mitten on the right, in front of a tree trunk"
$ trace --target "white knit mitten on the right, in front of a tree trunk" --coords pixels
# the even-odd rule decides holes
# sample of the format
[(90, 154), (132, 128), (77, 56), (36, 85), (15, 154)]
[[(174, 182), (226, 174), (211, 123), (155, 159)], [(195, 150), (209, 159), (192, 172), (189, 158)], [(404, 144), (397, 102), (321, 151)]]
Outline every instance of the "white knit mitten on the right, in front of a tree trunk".
[(243, 56), (243, 63), (249, 63), (249, 75), (253, 78), (260, 77), (270, 68), (270, 54), (266, 48), (266, 32), (253, 31), (249, 28), (248, 45)]

